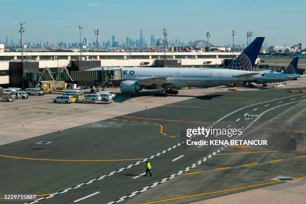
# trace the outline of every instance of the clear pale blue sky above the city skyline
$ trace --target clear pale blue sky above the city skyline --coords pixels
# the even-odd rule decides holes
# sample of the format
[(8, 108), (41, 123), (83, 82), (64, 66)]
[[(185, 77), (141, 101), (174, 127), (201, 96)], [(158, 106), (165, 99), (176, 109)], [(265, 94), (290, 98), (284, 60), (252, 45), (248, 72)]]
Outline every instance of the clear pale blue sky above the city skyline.
[[(161, 36), (163, 27), (169, 38), (205, 39), (211, 33), (214, 44), (246, 43), (246, 32), (265, 36), (268, 44), (306, 43), (305, 0), (1, 0), (0, 39), (19, 37), (19, 21), (25, 21), (24, 40), (51, 42), (78, 41), (82, 37), (100, 40), (111, 35), (121, 42), (129, 36), (148, 39)], [(99, 41), (100, 41), (99, 40)]]

